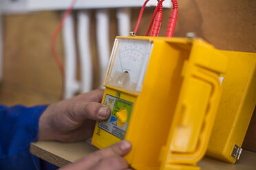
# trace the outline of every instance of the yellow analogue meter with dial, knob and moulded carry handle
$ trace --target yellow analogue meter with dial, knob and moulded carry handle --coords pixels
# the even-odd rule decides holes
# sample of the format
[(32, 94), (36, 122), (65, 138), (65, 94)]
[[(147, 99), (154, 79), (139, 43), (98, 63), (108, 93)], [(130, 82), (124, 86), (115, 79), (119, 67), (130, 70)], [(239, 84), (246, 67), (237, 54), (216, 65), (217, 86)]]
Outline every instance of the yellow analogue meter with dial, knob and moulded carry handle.
[(201, 39), (117, 37), (92, 144), (131, 142), (134, 169), (199, 169), (221, 95), (226, 57)]

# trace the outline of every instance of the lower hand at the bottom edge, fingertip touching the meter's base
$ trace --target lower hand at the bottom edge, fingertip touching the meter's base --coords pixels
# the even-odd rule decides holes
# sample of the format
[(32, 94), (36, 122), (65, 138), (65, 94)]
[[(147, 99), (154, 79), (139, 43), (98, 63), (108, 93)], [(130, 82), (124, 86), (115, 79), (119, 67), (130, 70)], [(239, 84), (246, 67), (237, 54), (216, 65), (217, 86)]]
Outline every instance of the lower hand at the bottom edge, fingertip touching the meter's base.
[(120, 141), (105, 149), (95, 151), (85, 158), (60, 170), (125, 170), (129, 169), (125, 156), (131, 150), (131, 143)]

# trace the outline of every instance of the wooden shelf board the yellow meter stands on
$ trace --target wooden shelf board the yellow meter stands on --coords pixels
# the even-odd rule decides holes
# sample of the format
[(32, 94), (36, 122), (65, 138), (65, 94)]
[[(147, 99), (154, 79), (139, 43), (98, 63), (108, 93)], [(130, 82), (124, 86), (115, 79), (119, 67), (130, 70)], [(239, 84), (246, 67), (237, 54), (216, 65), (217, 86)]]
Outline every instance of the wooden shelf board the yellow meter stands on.
[[(71, 162), (87, 156), (96, 148), (87, 142), (58, 143), (52, 141), (40, 141), (30, 145), (30, 152), (43, 160), (63, 167)], [(203, 158), (198, 165), (202, 170), (253, 170), (256, 167), (256, 153), (244, 150), (240, 160), (231, 165), (212, 158)]]

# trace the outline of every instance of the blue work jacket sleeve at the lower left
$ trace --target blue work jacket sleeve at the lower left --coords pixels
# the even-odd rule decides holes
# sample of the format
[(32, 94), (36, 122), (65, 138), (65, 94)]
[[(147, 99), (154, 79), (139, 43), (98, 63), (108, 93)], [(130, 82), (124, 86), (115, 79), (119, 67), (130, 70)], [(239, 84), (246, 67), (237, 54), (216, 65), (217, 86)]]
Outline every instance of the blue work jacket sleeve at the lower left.
[(37, 140), (39, 118), (45, 108), (0, 106), (0, 169), (56, 169), (29, 151), (30, 143)]

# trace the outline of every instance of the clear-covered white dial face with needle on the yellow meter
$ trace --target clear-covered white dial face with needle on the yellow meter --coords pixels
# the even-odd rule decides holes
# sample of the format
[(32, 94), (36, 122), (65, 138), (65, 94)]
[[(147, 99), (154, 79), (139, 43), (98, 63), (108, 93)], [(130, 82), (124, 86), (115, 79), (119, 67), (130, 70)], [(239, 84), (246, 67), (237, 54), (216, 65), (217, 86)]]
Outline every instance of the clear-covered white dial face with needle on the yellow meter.
[(152, 47), (151, 40), (116, 38), (105, 84), (140, 92)]

